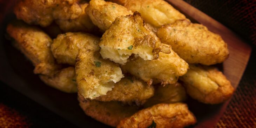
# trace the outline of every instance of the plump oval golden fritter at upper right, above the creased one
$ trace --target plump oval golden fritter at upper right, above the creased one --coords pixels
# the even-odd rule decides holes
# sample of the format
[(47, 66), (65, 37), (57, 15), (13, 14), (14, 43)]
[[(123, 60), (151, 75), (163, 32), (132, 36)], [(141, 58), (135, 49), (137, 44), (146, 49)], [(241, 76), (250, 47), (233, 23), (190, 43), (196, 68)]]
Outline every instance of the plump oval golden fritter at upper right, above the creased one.
[(223, 62), (229, 55), (227, 43), (220, 35), (187, 20), (159, 28), (157, 36), (188, 63), (213, 65)]

